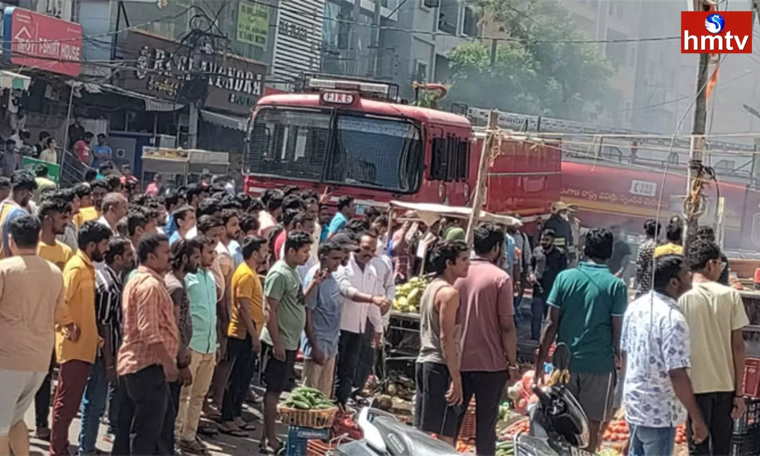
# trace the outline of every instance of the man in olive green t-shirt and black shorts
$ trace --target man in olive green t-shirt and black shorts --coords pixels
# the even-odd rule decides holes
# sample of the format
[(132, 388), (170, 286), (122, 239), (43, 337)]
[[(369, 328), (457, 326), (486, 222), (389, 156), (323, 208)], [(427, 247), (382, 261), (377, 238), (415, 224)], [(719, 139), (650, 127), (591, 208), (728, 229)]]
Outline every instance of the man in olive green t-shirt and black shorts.
[[(264, 280), (264, 298), (268, 312), (267, 324), (261, 331), (261, 359), (264, 384), (264, 434), (262, 452), (277, 452), (277, 402), (288, 387), (301, 333), (306, 326), (306, 307), (301, 277), (296, 267), (309, 259), (312, 236), (291, 231), (285, 241), (285, 255), (277, 261)], [(315, 274), (316, 281), (322, 275)]]

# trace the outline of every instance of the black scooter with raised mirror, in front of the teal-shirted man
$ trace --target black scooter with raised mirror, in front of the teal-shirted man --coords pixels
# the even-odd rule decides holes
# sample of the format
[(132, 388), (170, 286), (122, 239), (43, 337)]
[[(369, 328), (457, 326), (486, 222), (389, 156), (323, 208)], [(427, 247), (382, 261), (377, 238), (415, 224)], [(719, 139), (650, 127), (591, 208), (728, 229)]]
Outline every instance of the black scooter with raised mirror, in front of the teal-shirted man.
[(588, 419), (575, 397), (567, 391), (570, 349), (557, 344), (552, 364), (557, 382), (546, 388), (534, 386), (538, 402), (528, 411), (530, 431), (515, 435), (516, 456), (594, 456), (588, 445)]

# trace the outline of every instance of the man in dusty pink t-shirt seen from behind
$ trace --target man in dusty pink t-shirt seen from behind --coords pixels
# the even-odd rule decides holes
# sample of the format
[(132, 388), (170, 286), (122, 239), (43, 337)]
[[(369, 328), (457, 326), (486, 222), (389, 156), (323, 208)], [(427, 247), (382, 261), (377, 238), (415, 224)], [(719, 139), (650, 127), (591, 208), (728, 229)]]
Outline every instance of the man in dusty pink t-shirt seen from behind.
[(515, 298), (511, 277), (496, 266), (504, 255), (504, 231), (481, 223), (474, 234), (470, 271), (454, 283), (461, 301), (462, 394), (464, 404), (475, 396), (477, 454), (496, 454), (502, 389), (518, 369)]

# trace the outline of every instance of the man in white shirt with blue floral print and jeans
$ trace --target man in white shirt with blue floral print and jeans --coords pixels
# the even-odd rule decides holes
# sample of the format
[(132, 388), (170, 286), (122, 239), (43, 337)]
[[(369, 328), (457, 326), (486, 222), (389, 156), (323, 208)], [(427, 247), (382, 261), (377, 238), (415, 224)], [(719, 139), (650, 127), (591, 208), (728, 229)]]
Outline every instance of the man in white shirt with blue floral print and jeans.
[(677, 299), (692, 287), (681, 255), (663, 255), (654, 266), (654, 290), (625, 311), (621, 349), (625, 363), (630, 456), (673, 454), (676, 426), (692, 418), (695, 441), (708, 435), (689, 379), (689, 325)]

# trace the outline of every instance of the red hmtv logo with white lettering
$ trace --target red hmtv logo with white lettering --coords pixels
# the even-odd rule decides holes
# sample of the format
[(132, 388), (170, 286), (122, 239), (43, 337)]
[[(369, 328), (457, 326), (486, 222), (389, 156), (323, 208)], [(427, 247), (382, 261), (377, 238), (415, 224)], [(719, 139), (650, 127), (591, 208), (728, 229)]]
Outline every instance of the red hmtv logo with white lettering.
[(683, 54), (752, 54), (752, 11), (681, 11)]

